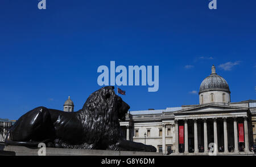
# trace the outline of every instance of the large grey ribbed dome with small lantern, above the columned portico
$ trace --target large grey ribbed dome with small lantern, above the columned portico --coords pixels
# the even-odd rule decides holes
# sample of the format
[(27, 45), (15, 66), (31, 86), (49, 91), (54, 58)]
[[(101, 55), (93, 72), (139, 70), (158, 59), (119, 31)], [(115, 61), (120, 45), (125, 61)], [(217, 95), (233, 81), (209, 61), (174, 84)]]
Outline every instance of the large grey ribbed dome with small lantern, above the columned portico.
[(223, 91), (230, 93), (229, 85), (222, 76), (216, 74), (214, 65), (212, 66), (212, 74), (207, 76), (200, 85), (200, 93), (208, 91)]

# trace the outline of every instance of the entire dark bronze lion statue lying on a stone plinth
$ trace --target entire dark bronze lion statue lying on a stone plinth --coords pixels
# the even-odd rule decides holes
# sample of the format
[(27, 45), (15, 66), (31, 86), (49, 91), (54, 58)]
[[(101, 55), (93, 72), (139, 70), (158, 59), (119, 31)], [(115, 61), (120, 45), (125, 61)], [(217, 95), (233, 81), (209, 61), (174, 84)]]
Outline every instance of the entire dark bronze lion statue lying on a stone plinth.
[(63, 112), (42, 106), (22, 115), (10, 128), (5, 144), (37, 147), (109, 149), (156, 152), (152, 145), (131, 142), (121, 136), (119, 119), (124, 121), (130, 106), (115, 95), (114, 87), (93, 92), (82, 109)]

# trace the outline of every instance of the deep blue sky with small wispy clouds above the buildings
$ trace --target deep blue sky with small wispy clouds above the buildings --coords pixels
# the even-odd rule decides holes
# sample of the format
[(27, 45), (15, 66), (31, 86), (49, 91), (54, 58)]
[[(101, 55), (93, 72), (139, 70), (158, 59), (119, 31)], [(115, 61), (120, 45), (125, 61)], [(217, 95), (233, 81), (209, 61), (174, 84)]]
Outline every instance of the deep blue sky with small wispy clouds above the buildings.
[(75, 110), (101, 65), (158, 65), (159, 91), (122, 86), (131, 110), (198, 104), (216, 66), (232, 102), (256, 99), (256, 1), (0, 1), (0, 118), (37, 106)]

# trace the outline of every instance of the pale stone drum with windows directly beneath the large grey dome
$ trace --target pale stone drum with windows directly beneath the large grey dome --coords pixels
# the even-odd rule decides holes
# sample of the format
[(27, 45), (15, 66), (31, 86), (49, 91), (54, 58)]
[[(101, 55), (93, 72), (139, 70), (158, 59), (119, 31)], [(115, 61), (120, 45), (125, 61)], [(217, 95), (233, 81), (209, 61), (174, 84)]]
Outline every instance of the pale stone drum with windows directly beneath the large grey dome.
[[(230, 102), (230, 94), (223, 91), (209, 91), (209, 92), (203, 92), (199, 95), (199, 102), (200, 104), (207, 104), (212, 103), (210, 101), (210, 95), (213, 93), (213, 102), (219, 103), (219, 104), (228, 104)], [(222, 95), (225, 94), (225, 102), (223, 102)], [(202, 95), (203, 95), (203, 103), (202, 103)]]

